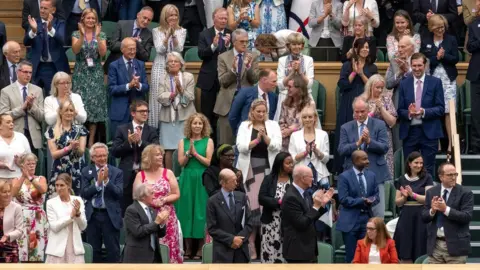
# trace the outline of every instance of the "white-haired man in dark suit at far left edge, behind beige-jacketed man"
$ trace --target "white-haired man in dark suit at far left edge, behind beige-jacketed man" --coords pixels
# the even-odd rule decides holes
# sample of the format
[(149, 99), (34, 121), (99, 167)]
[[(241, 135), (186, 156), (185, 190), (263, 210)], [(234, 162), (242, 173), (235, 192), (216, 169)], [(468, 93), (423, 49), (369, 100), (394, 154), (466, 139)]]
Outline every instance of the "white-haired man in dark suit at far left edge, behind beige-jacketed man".
[(17, 67), (20, 63), (21, 47), (16, 41), (8, 41), (2, 46), (0, 59), (0, 90), (17, 81)]

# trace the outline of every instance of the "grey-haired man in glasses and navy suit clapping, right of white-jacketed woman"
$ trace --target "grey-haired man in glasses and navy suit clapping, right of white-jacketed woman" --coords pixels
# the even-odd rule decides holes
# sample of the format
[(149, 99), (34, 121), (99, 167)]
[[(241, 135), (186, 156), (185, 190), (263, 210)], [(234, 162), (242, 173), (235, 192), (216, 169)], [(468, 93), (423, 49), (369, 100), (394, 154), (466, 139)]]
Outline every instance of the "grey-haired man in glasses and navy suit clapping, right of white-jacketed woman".
[(93, 247), (93, 262), (103, 262), (102, 244), (107, 251), (107, 263), (120, 260), (120, 229), (123, 198), (123, 172), (107, 164), (108, 147), (95, 143), (90, 148), (94, 164), (82, 169), (82, 198), (88, 220), (87, 242)]

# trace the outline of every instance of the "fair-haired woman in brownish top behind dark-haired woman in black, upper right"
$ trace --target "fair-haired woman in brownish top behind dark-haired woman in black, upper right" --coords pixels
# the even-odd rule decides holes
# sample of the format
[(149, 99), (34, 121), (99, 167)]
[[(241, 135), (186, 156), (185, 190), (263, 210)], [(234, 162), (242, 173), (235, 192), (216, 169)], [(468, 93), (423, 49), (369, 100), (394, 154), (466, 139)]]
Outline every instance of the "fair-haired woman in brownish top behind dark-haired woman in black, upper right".
[(343, 63), (353, 58), (355, 51), (355, 41), (365, 39), (368, 43), (368, 55), (372, 63), (377, 60), (377, 40), (374, 36), (368, 36), (367, 33), (367, 19), (364, 16), (355, 18), (353, 25), (353, 35), (345, 36), (342, 45), (341, 61)]

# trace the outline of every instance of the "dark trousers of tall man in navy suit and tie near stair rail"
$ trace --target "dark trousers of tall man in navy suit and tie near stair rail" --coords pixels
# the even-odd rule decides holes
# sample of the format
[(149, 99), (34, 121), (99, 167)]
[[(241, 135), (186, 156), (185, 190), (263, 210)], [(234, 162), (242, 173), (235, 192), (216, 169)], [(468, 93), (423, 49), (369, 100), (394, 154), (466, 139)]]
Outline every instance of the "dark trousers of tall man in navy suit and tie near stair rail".
[(438, 150), (438, 139), (428, 139), (421, 125), (410, 126), (408, 136), (403, 140), (403, 156), (413, 151), (422, 153), (423, 165), (432, 177), (435, 177), (435, 155)]

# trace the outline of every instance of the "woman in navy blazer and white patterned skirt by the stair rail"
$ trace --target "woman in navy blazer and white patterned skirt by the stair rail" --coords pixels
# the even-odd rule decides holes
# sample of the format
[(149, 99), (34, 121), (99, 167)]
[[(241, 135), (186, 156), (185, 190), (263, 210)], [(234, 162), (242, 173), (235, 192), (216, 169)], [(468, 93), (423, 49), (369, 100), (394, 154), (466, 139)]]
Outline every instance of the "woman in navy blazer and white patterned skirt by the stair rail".
[[(430, 75), (442, 81), (445, 100), (445, 128), (448, 135), (447, 161), (452, 156), (452, 131), (450, 129), (449, 101), (457, 103), (457, 67), (458, 45), (455, 36), (446, 33), (448, 22), (442, 15), (432, 15), (428, 20), (431, 33), (424, 34), (421, 52), (425, 54), (430, 64)], [(456, 106), (455, 106), (456, 108)]]

